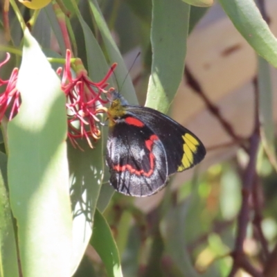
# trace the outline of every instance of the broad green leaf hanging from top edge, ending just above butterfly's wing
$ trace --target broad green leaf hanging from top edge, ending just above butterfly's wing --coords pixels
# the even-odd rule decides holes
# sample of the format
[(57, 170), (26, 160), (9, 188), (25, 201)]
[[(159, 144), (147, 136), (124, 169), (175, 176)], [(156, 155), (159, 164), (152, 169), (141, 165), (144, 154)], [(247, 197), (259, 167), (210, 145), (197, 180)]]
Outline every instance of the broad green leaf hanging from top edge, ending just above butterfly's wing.
[(153, 0), (152, 69), (145, 106), (168, 111), (184, 74), (190, 6)]

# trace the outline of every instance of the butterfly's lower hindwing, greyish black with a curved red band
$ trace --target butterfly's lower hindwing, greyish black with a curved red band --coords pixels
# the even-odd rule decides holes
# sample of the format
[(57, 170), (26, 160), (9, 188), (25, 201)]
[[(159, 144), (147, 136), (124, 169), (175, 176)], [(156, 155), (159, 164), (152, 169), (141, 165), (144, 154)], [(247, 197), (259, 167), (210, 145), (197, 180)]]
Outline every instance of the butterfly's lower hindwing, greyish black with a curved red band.
[(110, 127), (106, 160), (109, 181), (120, 193), (148, 196), (166, 185), (166, 152), (147, 125), (135, 126), (122, 120)]

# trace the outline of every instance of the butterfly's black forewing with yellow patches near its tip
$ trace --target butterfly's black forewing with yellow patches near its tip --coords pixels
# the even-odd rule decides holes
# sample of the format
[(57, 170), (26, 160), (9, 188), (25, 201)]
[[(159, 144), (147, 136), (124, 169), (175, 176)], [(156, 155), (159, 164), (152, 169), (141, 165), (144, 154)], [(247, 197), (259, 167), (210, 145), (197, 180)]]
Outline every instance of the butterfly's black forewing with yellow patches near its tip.
[(156, 134), (166, 152), (168, 175), (192, 168), (204, 159), (203, 143), (172, 118), (148, 107), (125, 106), (127, 114), (138, 118)]

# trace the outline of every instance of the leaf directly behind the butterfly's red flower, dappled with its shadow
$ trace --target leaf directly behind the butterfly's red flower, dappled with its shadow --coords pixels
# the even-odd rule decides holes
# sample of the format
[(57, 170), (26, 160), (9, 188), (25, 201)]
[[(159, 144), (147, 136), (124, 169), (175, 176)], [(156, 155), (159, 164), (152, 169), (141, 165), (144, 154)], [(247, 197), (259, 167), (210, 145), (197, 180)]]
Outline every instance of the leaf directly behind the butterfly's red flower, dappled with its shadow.
[[(71, 1), (71, 4), (75, 7), (76, 15), (84, 33), (89, 76), (93, 82), (98, 82), (105, 77), (109, 66), (102, 49), (84, 21), (75, 1)], [(102, 128), (100, 129), (102, 132)], [(83, 151), (74, 149), (69, 144), (71, 199), (73, 204), (73, 262), (71, 274), (77, 269), (91, 238), (92, 219), (103, 179), (104, 155), (102, 153), (104, 141), (105, 136), (102, 136), (93, 150), (89, 148), (87, 141), (80, 141), (78, 143)]]

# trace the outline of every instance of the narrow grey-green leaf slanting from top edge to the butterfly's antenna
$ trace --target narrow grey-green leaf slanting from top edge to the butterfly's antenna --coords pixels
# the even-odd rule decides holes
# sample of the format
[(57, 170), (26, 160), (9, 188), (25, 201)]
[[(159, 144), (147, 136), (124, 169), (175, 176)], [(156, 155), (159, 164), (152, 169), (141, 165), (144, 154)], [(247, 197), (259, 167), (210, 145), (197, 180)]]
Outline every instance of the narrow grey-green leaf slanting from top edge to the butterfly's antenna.
[(112, 63), (118, 63), (114, 71), (114, 74), (116, 75), (116, 80), (120, 85), (120, 93), (123, 94), (127, 101), (135, 105), (138, 101), (136, 99), (136, 92), (134, 91), (132, 80), (129, 77), (123, 57), (121, 56), (118, 47), (116, 46), (116, 43), (114, 42), (114, 39), (111, 36), (111, 33), (109, 32), (109, 28), (106, 24), (106, 21), (102, 16), (101, 10), (98, 6), (98, 1), (90, 0), (89, 6), (91, 8), (91, 11), (93, 12), (96, 24), (102, 35), (103, 42), (109, 55), (109, 60)]

